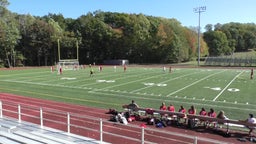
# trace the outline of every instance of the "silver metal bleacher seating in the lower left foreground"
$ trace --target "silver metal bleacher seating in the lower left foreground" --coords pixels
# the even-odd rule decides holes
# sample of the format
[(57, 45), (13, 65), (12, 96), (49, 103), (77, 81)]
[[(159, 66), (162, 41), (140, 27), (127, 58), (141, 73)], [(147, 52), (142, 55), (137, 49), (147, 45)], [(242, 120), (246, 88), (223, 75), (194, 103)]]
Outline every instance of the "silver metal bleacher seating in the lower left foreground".
[(43, 127), (40, 125), (19, 122), (12, 118), (0, 118), (1, 144), (98, 144), (104, 143), (95, 139)]

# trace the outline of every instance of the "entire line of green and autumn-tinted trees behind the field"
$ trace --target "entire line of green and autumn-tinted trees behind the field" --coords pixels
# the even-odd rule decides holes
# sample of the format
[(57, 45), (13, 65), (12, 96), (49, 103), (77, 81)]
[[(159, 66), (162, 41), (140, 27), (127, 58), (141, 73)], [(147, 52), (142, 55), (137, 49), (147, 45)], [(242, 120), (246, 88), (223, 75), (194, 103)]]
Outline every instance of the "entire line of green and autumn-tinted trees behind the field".
[[(197, 56), (197, 31), (176, 19), (102, 11), (77, 19), (51, 13), (35, 17), (12, 13), (8, 4), (0, 0), (0, 66), (54, 65), (58, 44), (62, 59), (75, 58), (78, 46), (82, 64), (107, 59), (176, 63)], [(214, 30), (207, 25), (206, 29), (200, 41), (202, 56), (255, 48), (254, 24), (218, 24)]]

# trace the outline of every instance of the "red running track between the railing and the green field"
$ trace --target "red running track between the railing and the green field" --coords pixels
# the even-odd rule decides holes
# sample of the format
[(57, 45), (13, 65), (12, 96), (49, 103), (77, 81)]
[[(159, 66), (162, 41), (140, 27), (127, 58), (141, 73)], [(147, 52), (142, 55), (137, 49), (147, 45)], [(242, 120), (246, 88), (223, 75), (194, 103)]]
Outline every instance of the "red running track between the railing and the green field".
[[(8, 117), (13, 117), (18, 119), (17, 113), (12, 113), (11, 111), (18, 111), (17, 105), (11, 106), (5, 103), (15, 103), (20, 104), (21, 106), (21, 120), (28, 121), (36, 124), (40, 124), (40, 108), (43, 109), (43, 125), (47, 127), (56, 128), (59, 130), (67, 131), (67, 113), (71, 114), (70, 123), (71, 128), (70, 132), (90, 138), (99, 140), (99, 119), (103, 120), (103, 131), (111, 134), (118, 134), (124, 137), (136, 138), (137, 141), (132, 139), (120, 138), (110, 134), (103, 134), (103, 140), (106, 142), (114, 144), (140, 144), (141, 139), (141, 128), (140, 124), (145, 123), (141, 121), (131, 122), (129, 125), (125, 126), (122, 124), (107, 122), (110, 115), (106, 114), (108, 110), (92, 108), (68, 103), (61, 103), (43, 99), (36, 99), (31, 97), (19, 96), (8, 93), (0, 93), (0, 100), (3, 103), (3, 115)], [(73, 116), (75, 115), (75, 116)], [(31, 117), (33, 116), (33, 117)], [(81, 126), (76, 127), (75, 125)], [(84, 129), (83, 127), (97, 130), (92, 131)], [(150, 130), (153, 129), (154, 131)], [(186, 127), (173, 127), (168, 126), (165, 128), (155, 128), (154, 126), (147, 126), (145, 129), (145, 143), (161, 143), (161, 144), (191, 144), (193, 139), (189, 139), (182, 136), (170, 135), (170, 132), (175, 132), (181, 135), (190, 135), (197, 136), (200, 138), (209, 138), (213, 140), (223, 141), (226, 143), (240, 143), (237, 138), (244, 137), (246, 133), (237, 133), (233, 132), (233, 135), (229, 138), (223, 137), (219, 134), (213, 133), (208, 129), (195, 129), (190, 130)], [(198, 144), (210, 144), (211, 142), (205, 142), (198, 140)], [(242, 142), (246, 143), (246, 142)], [(248, 142), (249, 143), (249, 142)]]

